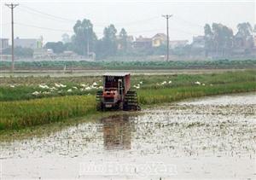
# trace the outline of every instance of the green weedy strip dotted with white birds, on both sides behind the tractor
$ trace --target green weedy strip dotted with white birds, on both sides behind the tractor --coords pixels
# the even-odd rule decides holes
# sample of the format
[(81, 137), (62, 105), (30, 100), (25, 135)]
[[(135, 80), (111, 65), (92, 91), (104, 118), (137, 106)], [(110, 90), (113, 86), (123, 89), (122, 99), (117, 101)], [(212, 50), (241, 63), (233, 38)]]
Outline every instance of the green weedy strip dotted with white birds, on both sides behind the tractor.
[[(212, 74), (137, 75), (132, 76), (131, 87), (139, 90), (191, 86), (214, 86), (256, 81), (256, 71)], [(95, 94), (102, 89), (102, 77), (26, 77), (0, 78), (0, 101), (28, 100), (49, 96), (71, 96)], [(10, 85), (12, 87), (10, 87)], [(74, 88), (74, 87), (77, 87)], [(32, 95), (33, 92), (41, 92)], [(49, 91), (46, 94), (43, 92)]]

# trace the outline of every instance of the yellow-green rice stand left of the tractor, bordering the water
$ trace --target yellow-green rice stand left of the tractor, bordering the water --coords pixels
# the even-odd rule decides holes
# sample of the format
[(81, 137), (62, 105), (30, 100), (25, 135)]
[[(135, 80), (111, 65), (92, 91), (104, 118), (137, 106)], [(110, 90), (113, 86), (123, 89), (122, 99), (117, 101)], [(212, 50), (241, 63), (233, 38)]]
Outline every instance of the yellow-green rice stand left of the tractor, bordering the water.
[(94, 96), (64, 96), (32, 101), (0, 102), (0, 130), (20, 129), (95, 112)]

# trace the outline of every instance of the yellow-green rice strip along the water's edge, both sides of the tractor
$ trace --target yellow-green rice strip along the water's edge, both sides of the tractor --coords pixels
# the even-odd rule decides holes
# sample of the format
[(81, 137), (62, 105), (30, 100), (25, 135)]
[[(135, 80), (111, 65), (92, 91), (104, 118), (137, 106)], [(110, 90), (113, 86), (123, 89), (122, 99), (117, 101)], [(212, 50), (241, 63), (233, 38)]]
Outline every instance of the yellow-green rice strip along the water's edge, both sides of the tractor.
[[(139, 102), (155, 105), (176, 102), (186, 98), (214, 96), (256, 91), (256, 82), (214, 84), (138, 90)], [(61, 96), (29, 101), (0, 102), (0, 131), (20, 130), (28, 126), (44, 125), (65, 119), (90, 117), (96, 112), (95, 96)], [(114, 112), (108, 113), (111, 115)], [(103, 113), (99, 113), (102, 116)]]

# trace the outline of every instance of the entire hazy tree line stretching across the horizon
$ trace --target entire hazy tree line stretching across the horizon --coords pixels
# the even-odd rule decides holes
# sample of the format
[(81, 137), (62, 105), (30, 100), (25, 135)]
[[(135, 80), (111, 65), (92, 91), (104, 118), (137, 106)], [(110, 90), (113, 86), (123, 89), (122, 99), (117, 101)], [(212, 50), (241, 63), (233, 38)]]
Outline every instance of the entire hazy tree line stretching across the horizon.
[[(170, 49), (170, 51), (172, 55), (181, 56), (201, 53), (206, 56), (225, 57), (242, 50), (242, 55), (247, 55), (253, 49), (253, 32), (256, 33), (256, 25), (253, 27), (248, 22), (238, 24), (236, 34), (230, 27), (223, 24), (212, 23), (212, 26), (206, 24), (203, 49), (194, 49), (192, 42), (192, 44)], [(95, 53), (97, 59), (113, 56), (166, 55), (166, 44), (161, 44), (160, 47), (134, 49), (130, 38), (125, 28), (121, 28), (118, 32), (113, 24), (106, 26), (103, 29), (102, 38), (98, 38), (91, 21), (84, 19), (77, 20), (71, 37), (65, 33), (62, 35), (62, 41), (48, 42), (44, 48), (53, 49), (55, 54), (61, 54), (65, 50), (71, 50), (83, 56)], [(3, 50), (3, 55), (9, 54), (11, 54), (10, 48)], [(32, 49), (15, 48), (17, 56), (32, 57), (32, 54)]]

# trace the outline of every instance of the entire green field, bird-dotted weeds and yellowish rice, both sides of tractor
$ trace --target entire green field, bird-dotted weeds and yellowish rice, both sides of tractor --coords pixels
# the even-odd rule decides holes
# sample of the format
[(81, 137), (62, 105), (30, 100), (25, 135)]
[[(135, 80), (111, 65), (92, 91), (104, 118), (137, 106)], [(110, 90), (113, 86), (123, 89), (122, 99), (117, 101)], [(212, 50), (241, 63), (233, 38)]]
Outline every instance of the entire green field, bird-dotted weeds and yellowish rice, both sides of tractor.
[[(195, 75), (141, 75), (132, 78), (132, 87), (137, 89), (141, 105), (151, 105), (198, 96), (255, 91), (255, 74), (255, 71), (245, 71)], [(73, 83), (68, 83), (70, 78), (63, 78), (57, 83), (55, 78), (47, 83), (42, 82), (40, 78), (26, 78), (35, 82), (39, 79), (44, 88), (38, 84), (15, 85), (14, 88), (0, 85), (0, 130), (49, 124), (96, 113), (95, 93), (102, 88), (100, 78), (79, 78), (73, 78)], [(9, 81), (13, 83), (12, 80)]]

